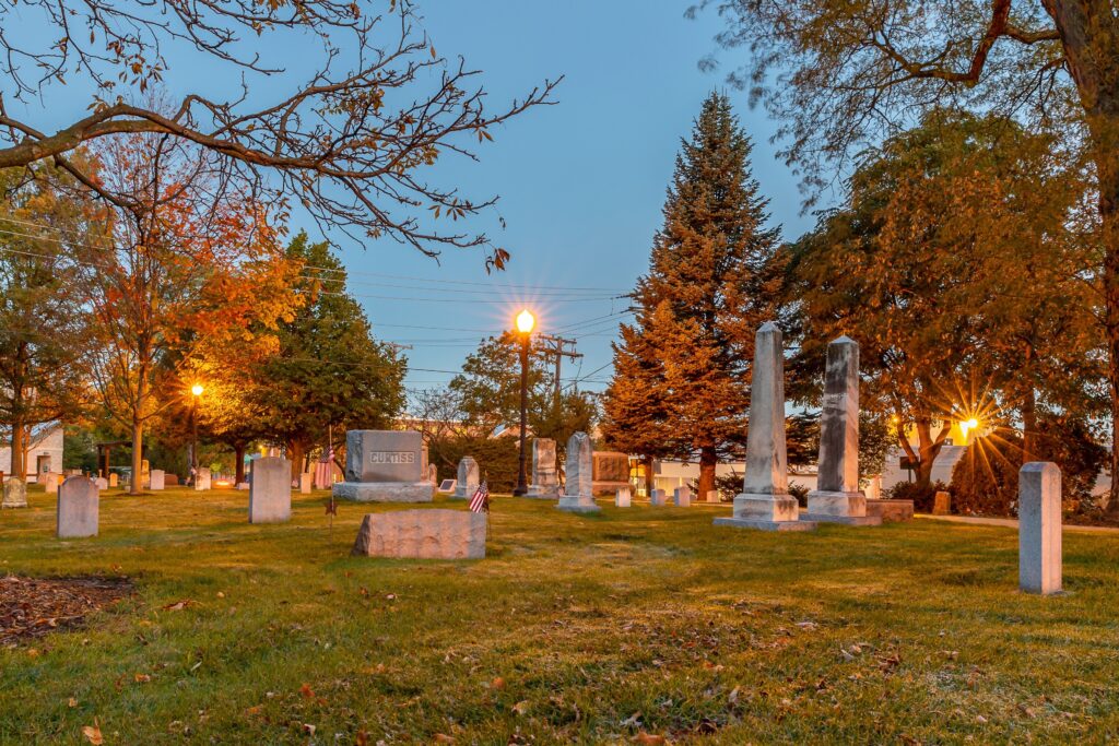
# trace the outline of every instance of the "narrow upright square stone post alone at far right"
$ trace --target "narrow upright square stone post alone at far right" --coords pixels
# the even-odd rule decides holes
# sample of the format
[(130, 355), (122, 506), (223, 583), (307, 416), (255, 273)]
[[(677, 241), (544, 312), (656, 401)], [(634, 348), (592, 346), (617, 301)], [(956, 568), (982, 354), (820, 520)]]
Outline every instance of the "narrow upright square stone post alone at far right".
[(1061, 470), (1032, 461), (1018, 472), (1018, 587), (1061, 592)]

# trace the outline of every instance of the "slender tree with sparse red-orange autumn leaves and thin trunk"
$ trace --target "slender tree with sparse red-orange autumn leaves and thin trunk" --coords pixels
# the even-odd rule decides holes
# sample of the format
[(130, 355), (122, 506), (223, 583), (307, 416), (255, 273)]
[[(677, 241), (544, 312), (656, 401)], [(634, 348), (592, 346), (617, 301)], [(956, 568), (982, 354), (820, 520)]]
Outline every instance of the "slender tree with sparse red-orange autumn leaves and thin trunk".
[(299, 299), (267, 210), (242, 200), (214, 157), (147, 133), (101, 141), (96, 155), (114, 210), (103, 242), (84, 247), (91, 356), (106, 410), (131, 435), (137, 493), (145, 424), (190, 396), (179, 371), (204, 348), (235, 353)]

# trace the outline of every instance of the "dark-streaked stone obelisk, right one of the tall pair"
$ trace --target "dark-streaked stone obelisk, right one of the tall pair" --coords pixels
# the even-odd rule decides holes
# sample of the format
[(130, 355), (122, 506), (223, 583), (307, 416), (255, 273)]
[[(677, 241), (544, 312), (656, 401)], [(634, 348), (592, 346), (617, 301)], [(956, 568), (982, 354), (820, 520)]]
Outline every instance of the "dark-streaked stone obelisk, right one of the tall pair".
[(818, 476), (806, 518), (880, 525), (881, 518), (866, 514), (866, 495), (858, 489), (858, 342), (848, 337), (828, 344), (821, 418)]

